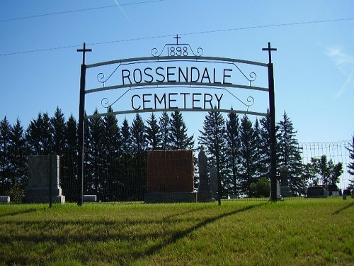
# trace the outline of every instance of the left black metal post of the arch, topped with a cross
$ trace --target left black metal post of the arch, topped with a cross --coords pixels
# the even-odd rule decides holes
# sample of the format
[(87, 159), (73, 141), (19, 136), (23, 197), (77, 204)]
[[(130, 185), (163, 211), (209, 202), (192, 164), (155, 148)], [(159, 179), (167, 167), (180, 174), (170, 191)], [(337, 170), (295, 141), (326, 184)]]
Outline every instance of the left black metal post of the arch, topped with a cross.
[(80, 74), (80, 104), (79, 104), (79, 199), (77, 204), (81, 206), (84, 203), (84, 140), (85, 140), (85, 86), (86, 86), (86, 65), (85, 65), (85, 53), (91, 52), (91, 49), (86, 49), (86, 43), (84, 43), (84, 49), (78, 49), (78, 52), (82, 52), (82, 65)]

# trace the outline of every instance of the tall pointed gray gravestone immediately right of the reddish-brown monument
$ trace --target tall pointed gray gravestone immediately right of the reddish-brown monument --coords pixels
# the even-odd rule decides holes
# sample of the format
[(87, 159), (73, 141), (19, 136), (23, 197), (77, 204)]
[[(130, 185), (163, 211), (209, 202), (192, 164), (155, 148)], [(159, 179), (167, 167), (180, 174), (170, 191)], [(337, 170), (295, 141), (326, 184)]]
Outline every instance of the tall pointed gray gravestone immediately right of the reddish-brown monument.
[(200, 149), (198, 154), (198, 167), (199, 167), (199, 187), (197, 200), (201, 202), (214, 202), (212, 192), (210, 191), (209, 180), (207, 179), (207, 156), (203, 148)]

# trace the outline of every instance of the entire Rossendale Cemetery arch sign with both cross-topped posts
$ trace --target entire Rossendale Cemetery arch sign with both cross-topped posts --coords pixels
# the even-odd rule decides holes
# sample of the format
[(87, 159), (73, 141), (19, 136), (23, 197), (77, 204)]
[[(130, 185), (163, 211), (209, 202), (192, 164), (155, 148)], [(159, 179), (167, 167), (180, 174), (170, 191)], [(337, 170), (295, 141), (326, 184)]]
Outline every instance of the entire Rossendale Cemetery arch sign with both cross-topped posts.
[[(79, 106), (81, 147), (79, 205), (83, 203), (84, 194), (84, 120), (86, 118), (176, 110), (268, 116), (266, 109), (253, 110), (253, 107), (257, 106), (254, 96), (249, 96), (245, 92), (262, 94), (258, 97), (261, 101), (268, 98), (267, 106), (272, 124), (270, 150), (275, 160), (274, 82), (270, 52), (276, 49), (270, 48), (270, 43), (268, 48), (263, 48), (268, 50), (269, 54), (269, 63), (265, 64), (225, 57), (205, 57), (202, 48), (194, 50), (189, 44), (178, 43), (180, 38), (178, 35), (175, 38), (176, 43), (166, 44), (161, 50), (153, 48), (149, 57), (98, 62), (91, 65), (85, 65), (85, 52), (90, 52), (91, 49), (86, 49), (84, 43), (84, 49), (78, 50), (83, 52)], [(86, 71), (90, 72), (87, 78)], [(268, 75), (263, 75), (268, 76), (268, 87), (258, 85), (258, 72), (268, 72)], [(264, 80), (267, 81), (263, 78), (263, 83)], [(86, 88), (86, 81), (90, 84), (89, 88)], [(169, 88), (168, 92), (166, 88)], [(234, 93), (235, 89), (238, 89), (237, 95)], [(269, 96), (264, 97), (264, 93), (268, 93)], [(92, 96), (97, 94), (101, 95), (101, 106), (110, 112), (85, 116), (85, 99), (91, 96), (95, 100), (96, 97)], [(111, 111), (110, 107), (115, 111)], [(276, 200), (275, 162), (272, 165), (271, 198)]]

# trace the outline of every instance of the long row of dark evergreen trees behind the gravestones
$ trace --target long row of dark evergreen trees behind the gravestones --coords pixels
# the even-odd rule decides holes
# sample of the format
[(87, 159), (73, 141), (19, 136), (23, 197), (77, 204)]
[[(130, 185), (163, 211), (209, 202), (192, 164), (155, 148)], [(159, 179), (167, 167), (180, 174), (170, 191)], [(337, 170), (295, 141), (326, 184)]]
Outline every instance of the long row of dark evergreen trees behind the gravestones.
[[(287, 166), (290, 192), (303, 195), (309, 179), (321, 175), (321, 164), (302, 165), (302, 150), (287, 113), (276, 130), (277, 168)], [(268, 191), (270, 177), (269, 138), (268, 117), (252, 122), (236, 113), (228, 113), (226, 119), (221, 113), (207, 113), (198, 143), (188, 135), (179, 111), (161, 113), (159, 118), (151, 113), (147, 121), (137, 113), (132, 123), (125, 118), (120, 125), (115, 116), (89, 118), (85, 123), (84, 193), (96, 194), (101, 201), (141, 200), (146, 192), (147, 150), (198, 150), (204, 146), (208, 163), (214, 160), (217, 166), (223, 195), (268, 196), (264, 191)], [(0, 148), (0, 194), (21, 196), (28, 182), (28, 155), (52, 153), (60, 156), (63, 194), (69, 201), (77, 199), (79, 147), (74, 116), (65, 121), (58, 107), (52, 117), (39, 113), (26, 129), (19, 119), (11, 126), (5, 117), (0, 121)], [(330, 167), (341, 172), (331, 160), (323, 160), (323, 165), (330, 162)], [(322, 183), (338, 181), (337, 176), (329, 175), (331, 180), (323, 179)], [(258, 184), (263, 184), (262, 189)]]

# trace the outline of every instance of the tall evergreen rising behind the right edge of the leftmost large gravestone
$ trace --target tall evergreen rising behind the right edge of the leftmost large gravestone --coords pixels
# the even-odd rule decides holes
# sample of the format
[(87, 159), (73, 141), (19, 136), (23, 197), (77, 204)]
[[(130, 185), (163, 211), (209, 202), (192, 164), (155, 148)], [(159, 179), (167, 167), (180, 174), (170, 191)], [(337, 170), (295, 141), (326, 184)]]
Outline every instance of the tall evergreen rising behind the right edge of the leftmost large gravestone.
[(52, 133), (52, 153), (64, 155), (66, 124), (64, 113), (57, 107), (54, 116), (50, 118), (50, 131)]

